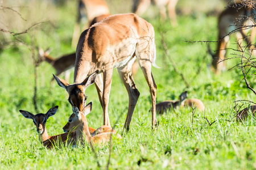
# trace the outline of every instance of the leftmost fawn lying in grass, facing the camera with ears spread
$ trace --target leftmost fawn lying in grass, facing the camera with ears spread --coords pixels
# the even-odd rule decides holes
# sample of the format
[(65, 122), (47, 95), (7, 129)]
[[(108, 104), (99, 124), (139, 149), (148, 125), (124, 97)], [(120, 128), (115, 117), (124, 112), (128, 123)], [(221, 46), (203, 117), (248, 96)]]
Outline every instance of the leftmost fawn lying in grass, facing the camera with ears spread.
[[(49, 111), (44, 113), (32, 114), (27, 111), (19, 110), (20, 113), (25, 118), (31, 118), (36, 126), (36, 131), (39, 134), (39, 141), (43, 143), (44, 146), (47, 148), (52, 148), (53, 146), (60, 146), (60, 145), (75, 145), (77, 134), (76, 131), (72, 131), (71, 133), (63, 133), (55, 136), (50, 136), (46, 130), (46, 121), (50, 116), (53, 116), (57, 112), (58, 106), (55, 106)], [(93, 133), (96, 129), (89, 128), (89, 133)]]

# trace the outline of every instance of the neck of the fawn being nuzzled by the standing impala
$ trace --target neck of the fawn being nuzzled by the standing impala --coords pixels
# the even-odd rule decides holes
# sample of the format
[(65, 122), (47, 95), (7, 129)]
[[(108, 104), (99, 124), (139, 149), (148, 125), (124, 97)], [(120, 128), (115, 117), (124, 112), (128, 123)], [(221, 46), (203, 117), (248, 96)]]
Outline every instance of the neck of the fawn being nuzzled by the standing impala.
[(77, 138), (79, 138), (81, 141), (86, 140), (86, 142), (90, 141), (90, 131), (89, 131), (89, 126), (88, 122), (86, 120), (86, 117), (82, 115), (82, 121), (80, 122), (79, 127), (77, 127)]

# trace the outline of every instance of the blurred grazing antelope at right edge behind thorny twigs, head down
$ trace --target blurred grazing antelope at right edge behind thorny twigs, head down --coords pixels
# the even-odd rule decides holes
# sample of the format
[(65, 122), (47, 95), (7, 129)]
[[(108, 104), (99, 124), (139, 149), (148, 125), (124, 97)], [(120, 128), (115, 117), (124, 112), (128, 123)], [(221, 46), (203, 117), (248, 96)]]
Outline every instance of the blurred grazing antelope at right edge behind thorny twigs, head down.
[[(254, 15), (255, 10), (249, 6), (243, 6), (242, 2), (234, 3), (221, 12), (218, 17), (218, 44), (216, 54), (213, 54), (209, 49), (209, 53), (213, 58), (212, 66), (215, 73), (220, 73), (221, 70), (225, 70), (225, 62), (223, 61), (226, 54), (226, 47), (229, 44), (229, 33), (236, 31), (236, 37), (238, 44), (241, 44), (243, 40), (247, 42), (250, 49), (254, 46), (251, 45), (255, 39), (254, 27), (251, 29), (250, 38), (247, 36), (247, 32), (250, 30), (248, 25), (255, 25), (254, 19), (250, 18), (250, 15)], [(243, 27), (243, 28), (241, 28)]]

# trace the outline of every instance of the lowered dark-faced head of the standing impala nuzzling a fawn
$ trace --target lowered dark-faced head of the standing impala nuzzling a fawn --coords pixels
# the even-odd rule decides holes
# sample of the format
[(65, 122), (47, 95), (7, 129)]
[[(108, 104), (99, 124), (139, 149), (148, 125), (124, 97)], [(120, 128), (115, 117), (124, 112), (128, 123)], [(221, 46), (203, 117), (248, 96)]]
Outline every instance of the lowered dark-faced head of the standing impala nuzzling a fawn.
[(68, 92), (69, 103), (72, 106), (76, 105), (79, 108), (79, 111), (82, 111), (86, 105), (87, 96), (85, 95), (85, 90), (88, 86), (94, 83), (97, 75), (98, 70), (89, 75), (82, 83), (69, 84), (65, 80), (58, 78), (53, 74), (59, 86), (65, 88), (65, 90)]

